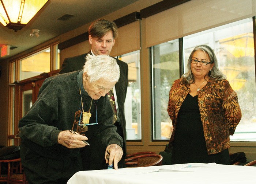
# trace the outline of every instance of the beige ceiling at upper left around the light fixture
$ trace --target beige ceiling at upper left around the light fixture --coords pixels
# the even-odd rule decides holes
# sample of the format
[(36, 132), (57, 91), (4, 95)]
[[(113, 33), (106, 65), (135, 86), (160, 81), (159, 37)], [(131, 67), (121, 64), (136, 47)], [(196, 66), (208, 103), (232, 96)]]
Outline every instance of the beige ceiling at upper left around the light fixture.
[[(0, 47), (15, 46), (5, 60), (29, 48), (46, 42), (56, 36), (74, 30), (100, 17), (108, 15), (138, 0), (50, 0), (22, 30), (15, 32), (0, 24)], [(64, 14), (76, 15), (63, 21), (57, 18)], [(30, 37), (32, 29), (38, 29), (40, 36)]]

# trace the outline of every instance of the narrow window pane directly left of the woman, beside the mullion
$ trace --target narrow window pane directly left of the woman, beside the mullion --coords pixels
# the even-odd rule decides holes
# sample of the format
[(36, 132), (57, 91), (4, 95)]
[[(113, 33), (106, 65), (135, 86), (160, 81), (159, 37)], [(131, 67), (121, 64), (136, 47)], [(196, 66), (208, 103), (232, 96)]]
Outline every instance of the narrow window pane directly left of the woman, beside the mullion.
[(167, 113), (169, 91), (180, 78), (178, 39), (153, 47), (153, 139), (168, 140), (172, 134), (172, 120)]

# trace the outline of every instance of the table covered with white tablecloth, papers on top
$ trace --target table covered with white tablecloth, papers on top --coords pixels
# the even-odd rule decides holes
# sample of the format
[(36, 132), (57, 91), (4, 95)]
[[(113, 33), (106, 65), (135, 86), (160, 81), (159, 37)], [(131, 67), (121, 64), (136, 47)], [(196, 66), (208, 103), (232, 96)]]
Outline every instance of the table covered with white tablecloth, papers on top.
[(176, 164), (80, 171), (67, 184), (256, 184), (256, 167), (220, 164)]

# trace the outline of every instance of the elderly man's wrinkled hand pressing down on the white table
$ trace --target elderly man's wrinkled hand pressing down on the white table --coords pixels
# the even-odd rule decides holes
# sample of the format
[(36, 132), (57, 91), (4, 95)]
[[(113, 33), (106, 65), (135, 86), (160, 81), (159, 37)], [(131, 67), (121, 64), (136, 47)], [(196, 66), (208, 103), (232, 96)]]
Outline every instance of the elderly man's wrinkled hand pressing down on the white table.
[[(108, 155), (107, 150), (110, 153), (110, 155)], [(117, 170), (118, 169), (117, 163), (121, 160), (123, 154), (124, 154), (123, 149), (117, 144), (108, 145), (105, 152), (106, 163), (108, 163), (109, 165), (114, 163), (114, 168)], [(107, 158), (107, 155), (109, 159)]]

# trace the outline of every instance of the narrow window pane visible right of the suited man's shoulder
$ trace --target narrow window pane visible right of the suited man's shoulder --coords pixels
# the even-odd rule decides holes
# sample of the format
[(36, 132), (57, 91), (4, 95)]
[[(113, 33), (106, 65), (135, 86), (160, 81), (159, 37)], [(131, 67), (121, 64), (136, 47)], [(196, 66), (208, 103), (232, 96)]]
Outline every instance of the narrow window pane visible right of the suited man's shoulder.
[(127, 140), (141, 140), (140, 114), (140, 52), (134, 51), (118, 56), (128, 64), (128, 88), (125, 98)]

